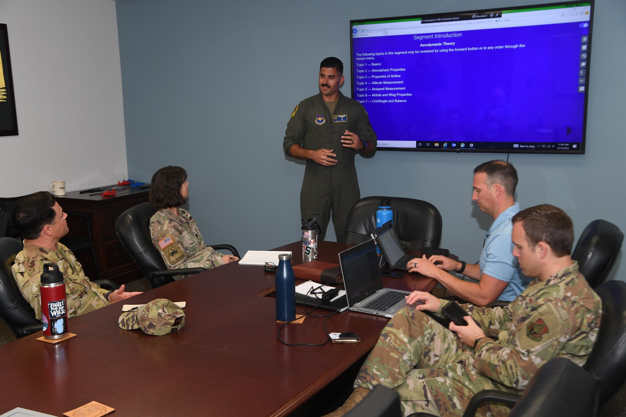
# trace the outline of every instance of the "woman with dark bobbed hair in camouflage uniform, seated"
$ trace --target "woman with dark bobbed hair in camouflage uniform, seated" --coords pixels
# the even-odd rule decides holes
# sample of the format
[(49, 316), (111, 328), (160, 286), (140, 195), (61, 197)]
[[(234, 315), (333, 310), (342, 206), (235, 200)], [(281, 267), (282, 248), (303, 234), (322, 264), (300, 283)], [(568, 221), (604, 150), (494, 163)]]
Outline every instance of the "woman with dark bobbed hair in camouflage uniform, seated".
[[(158, 210), (150, 218), (152, 243), (168, 269), (202, 267), (211, 269), (239, 260), (204, 244), (198, 224), (185, 209), (189, 196), (187, 171), (181, 167), (161, 168), (152, 176), (150, 203)], [(176, 280), (188, 275), (175, 275)]]

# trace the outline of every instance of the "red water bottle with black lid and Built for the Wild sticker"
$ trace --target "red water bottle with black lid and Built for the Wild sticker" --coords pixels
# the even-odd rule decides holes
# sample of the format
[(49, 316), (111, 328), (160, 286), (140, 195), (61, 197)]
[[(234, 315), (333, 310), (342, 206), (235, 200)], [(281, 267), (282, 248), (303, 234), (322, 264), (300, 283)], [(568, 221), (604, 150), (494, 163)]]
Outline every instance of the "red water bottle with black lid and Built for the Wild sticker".
[(61, 339), (68, 334), (68, 309), (63, 274), (56, 264), (44, 264), (39, 285), (41, 322), (46, 339)]

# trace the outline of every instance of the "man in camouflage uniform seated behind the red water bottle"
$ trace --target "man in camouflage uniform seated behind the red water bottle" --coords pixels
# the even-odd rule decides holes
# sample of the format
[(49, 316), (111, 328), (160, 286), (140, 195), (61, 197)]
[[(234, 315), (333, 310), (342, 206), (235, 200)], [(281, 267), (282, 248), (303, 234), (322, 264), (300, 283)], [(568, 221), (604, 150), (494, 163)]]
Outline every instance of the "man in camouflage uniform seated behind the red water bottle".
[(46, 191), (22, 198), (11, 212), (14, 227), (24, 237), (24, 250), (15, 257), (11, 272), (35, 316), (41, 319), (39, 284), (47, 263), (59, 265), (63, 274), (69, 318), (141, 294), (124, 292), (123, 285), (116, 291), (106, 291), (89, 281), (71, 250), (59, 243), (69, 231), (66, 217), (53, 195)]

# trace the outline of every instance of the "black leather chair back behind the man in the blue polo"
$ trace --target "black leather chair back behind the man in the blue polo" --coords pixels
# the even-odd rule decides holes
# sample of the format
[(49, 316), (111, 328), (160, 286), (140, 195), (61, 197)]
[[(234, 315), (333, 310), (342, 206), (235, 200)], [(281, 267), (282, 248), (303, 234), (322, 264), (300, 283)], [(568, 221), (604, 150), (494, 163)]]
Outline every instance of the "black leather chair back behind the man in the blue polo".
[(593, 220), (583, 230), (572, 259), (578, 261), (580, 273), (585, 275), (592, 288), (607, 279), (623, 239), (622, 231), (607, 220)]

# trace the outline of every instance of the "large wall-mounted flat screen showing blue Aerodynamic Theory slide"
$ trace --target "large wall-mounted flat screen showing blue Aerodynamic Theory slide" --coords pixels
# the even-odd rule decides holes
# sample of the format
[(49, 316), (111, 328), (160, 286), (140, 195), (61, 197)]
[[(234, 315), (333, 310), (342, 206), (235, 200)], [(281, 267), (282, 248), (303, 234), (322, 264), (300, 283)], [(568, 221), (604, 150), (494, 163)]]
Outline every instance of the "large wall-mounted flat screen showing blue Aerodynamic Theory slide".
[(352, 20), (379, 150), (585, 153), (593, 1)]

